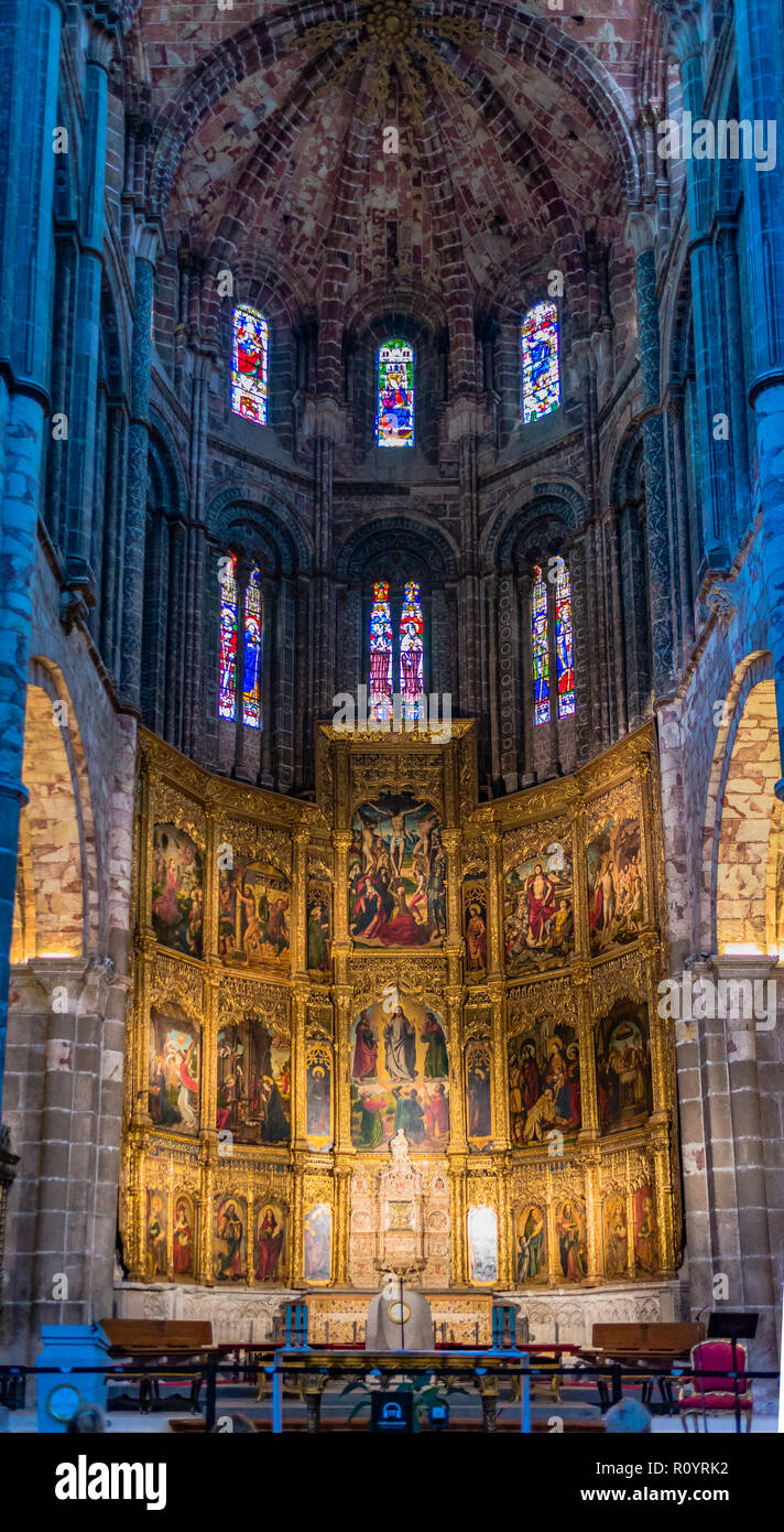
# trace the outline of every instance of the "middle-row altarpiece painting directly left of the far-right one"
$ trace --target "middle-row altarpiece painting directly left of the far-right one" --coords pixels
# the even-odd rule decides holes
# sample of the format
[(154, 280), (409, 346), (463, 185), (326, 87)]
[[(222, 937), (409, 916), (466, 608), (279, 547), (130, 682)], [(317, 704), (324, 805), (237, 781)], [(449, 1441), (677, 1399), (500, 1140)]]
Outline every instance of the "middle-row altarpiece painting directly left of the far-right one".
[(548, 1141), (557, 1129), (582, 1126), (580, 1049), (568, 1022), (548, 1017), (536, 1031), (508, 1040), (511, 1146)]

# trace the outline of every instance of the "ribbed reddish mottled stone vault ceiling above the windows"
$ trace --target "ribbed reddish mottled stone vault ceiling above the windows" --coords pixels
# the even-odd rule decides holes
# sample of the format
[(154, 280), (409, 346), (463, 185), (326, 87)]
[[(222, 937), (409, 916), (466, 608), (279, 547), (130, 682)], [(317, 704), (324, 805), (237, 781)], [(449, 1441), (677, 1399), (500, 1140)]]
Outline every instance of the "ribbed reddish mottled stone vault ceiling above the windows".
[[(126, 75), (152, 113), (150, 192), (168, 236), (274, 282), (292, 308), (335, 282), (345, 305), (398, 290), (449, 306), (459, 288), (476, 308), (527, 271), (568, 268), (588, 227), (620, 239), (640, 110), (663, 89), (648, 0), (564, 0), (568, 15), (545, 0), (406, 3), (464, 86), (426, 77), (421, 124), (395, 72), (368, 113), (355, 0), (263, 14), (257, 0), (142, 0)], [(439, 37), (439, 18), (461, 17), (478, 43)], [(314, 49), (305, 34), (325, 20), (345, 32)], [(384, 153), (384, 127), (398, 153)]]

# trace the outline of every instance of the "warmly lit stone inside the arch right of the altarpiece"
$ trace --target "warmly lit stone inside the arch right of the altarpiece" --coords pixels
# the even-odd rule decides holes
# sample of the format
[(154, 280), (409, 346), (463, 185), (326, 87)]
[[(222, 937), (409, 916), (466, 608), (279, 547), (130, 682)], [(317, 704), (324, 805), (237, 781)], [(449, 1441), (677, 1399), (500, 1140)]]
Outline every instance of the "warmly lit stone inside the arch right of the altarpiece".
[(714, 748), (703, 826), (703, 951), (767, 950), (779, 775), (772, 662), (756, 651), (733, 673)]

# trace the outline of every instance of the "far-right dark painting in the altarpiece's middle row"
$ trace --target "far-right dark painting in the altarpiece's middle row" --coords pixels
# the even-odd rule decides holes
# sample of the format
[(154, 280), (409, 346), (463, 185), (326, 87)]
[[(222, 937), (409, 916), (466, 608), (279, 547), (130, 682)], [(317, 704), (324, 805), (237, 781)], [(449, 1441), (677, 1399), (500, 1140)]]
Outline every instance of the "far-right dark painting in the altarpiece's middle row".
[(651, 1115), (648, 1008), (620, 1000), (596, 1033), (596, 1085), (603, 1132), (635, 1128)]

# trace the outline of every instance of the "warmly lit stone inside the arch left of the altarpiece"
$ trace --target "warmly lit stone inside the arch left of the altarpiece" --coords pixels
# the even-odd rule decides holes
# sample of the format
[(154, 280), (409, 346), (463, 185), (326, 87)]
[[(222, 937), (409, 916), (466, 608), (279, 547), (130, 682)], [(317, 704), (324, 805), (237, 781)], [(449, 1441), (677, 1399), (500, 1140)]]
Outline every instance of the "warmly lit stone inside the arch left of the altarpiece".
[(96, 948), (98, 869), (87, 764), (60, 671), (32, 660), (24, 722), (14, 961)]

